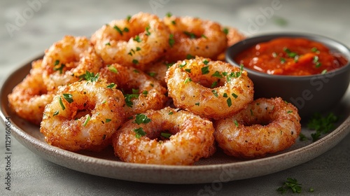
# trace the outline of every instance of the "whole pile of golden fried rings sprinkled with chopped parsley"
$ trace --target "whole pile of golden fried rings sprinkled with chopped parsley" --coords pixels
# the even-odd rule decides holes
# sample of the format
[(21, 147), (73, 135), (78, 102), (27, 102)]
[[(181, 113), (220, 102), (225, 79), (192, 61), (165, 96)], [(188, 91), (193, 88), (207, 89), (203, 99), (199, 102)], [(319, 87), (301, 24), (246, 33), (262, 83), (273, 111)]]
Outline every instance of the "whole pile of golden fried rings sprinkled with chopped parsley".
[(137, 13), (54, 43), (8, 95), (10, 108), (52, 146), (112, 145), (125, 162), (193, 165), (216, 144), (237, 158), (283, 151), (300, 134), (297, 109), (253, 100), (246, 71), (221, 61), (243, 38), (209, 20)]

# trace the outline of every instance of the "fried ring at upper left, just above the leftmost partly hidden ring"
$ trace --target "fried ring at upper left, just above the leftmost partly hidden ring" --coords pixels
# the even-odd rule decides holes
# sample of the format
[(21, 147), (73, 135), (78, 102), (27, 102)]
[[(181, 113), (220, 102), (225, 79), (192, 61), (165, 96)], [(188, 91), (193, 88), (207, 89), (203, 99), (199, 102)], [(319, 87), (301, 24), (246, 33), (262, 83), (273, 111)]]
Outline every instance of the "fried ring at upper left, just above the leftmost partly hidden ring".
[(45, 51), (43, 79), (48, 90), (76, 82), (86, 71), (97, 73), (102, 59), (86, 37), (64, 36)]

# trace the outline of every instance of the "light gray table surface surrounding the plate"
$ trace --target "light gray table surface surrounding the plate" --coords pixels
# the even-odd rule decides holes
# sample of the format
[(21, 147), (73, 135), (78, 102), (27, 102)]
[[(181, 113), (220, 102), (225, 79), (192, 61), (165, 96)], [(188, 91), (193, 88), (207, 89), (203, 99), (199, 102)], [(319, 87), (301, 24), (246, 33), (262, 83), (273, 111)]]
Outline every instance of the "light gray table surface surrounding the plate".
[[(0, 79), (66, 34), (90, 36), (106, 22), (139, 11), (198, 16), (237, 27), (247, 36), (275, 31), (322, 34), (350, 46), (349, 8), (350, 1), (0, 1)], [(13, 139), (8, 191), (2, 124), (0, 129), (0, 195), (279, 195), (276, 188), (288, 177), (302, 183), (301, 195), (350, 195), (350, 135), (302, 165), (223, 183), (215, 191), (210, 183), (137, 183), (76, 172), (44, 160)], [(307, 192), (311, 187), (314, 193)], [(207, 188), (210, 191), (200, 191)]]

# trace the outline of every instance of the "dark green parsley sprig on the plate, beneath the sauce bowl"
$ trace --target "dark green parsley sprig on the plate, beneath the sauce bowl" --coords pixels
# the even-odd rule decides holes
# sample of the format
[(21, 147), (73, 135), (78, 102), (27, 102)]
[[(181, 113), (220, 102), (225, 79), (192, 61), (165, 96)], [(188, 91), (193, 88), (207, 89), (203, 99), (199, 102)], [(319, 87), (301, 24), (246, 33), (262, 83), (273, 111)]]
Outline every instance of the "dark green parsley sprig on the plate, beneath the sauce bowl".
[(307, 127), (310, 130), (316, 130), (315, 133), (311, 134), (312, 141), (318, 140), (322, 134), (328, 134), (334, 130), (339, 117), (335, 116), (334, 113), (329, 113), (328, 116), (322, 116), (321, 113), (314, 113), (307, 123)]

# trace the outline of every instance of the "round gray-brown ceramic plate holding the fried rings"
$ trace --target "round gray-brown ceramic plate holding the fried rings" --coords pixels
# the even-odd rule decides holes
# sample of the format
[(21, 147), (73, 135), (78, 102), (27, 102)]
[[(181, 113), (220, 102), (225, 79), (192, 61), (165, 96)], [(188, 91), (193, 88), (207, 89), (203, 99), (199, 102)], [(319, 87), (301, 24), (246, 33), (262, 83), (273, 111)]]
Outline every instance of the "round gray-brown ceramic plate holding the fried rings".
[[(1, 119), (10, 117), (13, 137), (41, 158), (87, 174), (127, 181), (179, 184), (248, 179), (279, 172), (316, 158), (335, 146), (350, 132), (350, 91), (348, 90), (342, 102), (333, 111), (336, 115), (342, 116), (334, 131), (314, 143), (297, 140), (296, 144), (288, 150), (266, 158), (237, 160), (218, 149), (214, 156), (200, 160), (193, 166), (163, 166), (121, 162), (113, 155), (112, 148), (102, 153), (72, 153), (46, 144), (38, 126), (18, 118), (8, 109), (7, 95), (25, 78), (30, 68), (31, 61), (3, 80), (0, 91)], [(309, 136), (311, 131), (303, 128), (302, 133)]]

